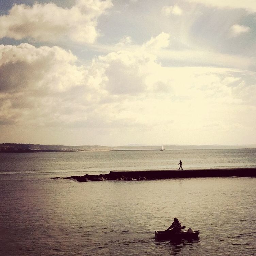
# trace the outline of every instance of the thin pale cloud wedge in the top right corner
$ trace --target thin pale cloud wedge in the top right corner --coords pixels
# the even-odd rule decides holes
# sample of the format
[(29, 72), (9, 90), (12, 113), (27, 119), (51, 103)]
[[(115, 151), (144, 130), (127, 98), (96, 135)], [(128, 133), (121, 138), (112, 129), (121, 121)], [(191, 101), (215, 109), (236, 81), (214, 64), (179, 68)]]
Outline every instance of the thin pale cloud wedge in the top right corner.
[(245, 9), (251, 12), (256, 12), (255, 0), (187, 0), (189, 2), (202, 3), (208, 6), (230, 9)]

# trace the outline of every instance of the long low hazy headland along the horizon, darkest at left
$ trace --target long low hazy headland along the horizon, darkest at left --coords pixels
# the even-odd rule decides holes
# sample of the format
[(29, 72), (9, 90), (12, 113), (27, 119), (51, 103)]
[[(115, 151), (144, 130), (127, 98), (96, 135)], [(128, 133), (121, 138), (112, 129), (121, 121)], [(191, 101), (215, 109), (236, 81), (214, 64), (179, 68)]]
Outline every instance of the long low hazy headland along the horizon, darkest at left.
[[(256, 148), (256, 145), (164, 145), (165, 150), (182, 149), (236, 149)], [(76, 151), (119, 151), (119, 150), (162, 150), (162, 145), (128, 145), (128, 146), (64, 146), (22, 143), (1, 143), (0, 153), (33, 152), (76, 152)]]

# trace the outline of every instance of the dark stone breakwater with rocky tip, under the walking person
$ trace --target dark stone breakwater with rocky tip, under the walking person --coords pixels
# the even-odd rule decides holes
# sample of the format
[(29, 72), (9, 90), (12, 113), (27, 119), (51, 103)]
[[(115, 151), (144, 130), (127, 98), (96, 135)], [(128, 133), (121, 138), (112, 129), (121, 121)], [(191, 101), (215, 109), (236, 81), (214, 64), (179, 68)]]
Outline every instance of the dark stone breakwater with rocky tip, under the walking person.
[[(70, 176), (64, 179), (74, 179), (80, 182), (102, 180), (155, 180), (174, 178), (202, 178), (202, 177), (256, 177), (256, 168), (239, 169), (204, 169), (204, 170), (163, 170), (163, 171), (110, 171), (108, 174), (84, 176)], [(55, 177), (53, 179), (57, 179)]]

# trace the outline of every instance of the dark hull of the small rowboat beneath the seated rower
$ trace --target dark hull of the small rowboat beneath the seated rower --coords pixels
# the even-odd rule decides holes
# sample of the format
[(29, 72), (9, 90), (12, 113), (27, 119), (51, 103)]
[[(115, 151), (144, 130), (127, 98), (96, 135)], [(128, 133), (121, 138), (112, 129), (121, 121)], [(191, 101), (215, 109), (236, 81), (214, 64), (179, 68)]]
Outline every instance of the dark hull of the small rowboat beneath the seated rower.
[(200, 234), (200, 231), (181, 231), (179, 234), (175, 234), (172, 231), (155, 231), (155, 239), (157, 240), (181, 240), (181, 239), (186, 239), (186, 240), (193, 240), (197, 239), (198, 235)]

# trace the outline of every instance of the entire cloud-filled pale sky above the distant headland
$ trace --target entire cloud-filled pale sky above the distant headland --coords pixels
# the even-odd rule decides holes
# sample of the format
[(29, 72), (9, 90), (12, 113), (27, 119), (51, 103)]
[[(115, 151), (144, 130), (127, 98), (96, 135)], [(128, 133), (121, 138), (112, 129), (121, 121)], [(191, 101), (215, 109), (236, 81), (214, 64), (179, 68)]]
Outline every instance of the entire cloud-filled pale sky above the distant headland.
[(0, 0), (0, 143), (256, 144), (255, 0)]

